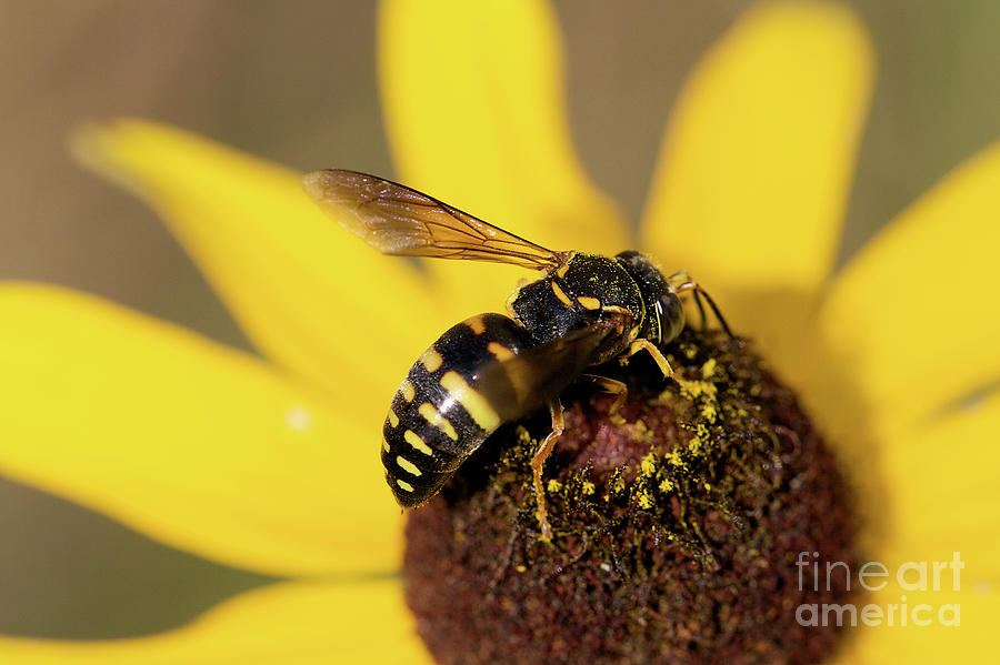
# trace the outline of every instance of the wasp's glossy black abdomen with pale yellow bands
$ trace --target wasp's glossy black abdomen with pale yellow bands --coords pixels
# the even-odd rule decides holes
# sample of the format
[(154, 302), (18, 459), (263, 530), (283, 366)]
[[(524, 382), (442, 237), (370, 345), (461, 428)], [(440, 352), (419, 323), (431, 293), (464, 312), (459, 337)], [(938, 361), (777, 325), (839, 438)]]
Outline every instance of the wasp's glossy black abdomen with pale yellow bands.
[(530, 345), (501, 314), (480, 314), (449, 329), (410, 367), (382, 427), (386, 480), (403, 507), (418, 506), (448, 482), (500, 426), (477, 389), (477, 370)]

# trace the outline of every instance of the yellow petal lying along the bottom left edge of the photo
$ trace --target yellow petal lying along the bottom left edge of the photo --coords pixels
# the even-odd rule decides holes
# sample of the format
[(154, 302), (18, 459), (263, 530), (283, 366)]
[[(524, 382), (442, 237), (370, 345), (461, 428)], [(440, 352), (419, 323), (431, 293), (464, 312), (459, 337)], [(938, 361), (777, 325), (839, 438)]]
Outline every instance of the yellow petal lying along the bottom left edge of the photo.
[(398, 580), (276, 584), (230, 599), (183, 628), (129, 639), (0, 637), (18, 665), (431, 665)]

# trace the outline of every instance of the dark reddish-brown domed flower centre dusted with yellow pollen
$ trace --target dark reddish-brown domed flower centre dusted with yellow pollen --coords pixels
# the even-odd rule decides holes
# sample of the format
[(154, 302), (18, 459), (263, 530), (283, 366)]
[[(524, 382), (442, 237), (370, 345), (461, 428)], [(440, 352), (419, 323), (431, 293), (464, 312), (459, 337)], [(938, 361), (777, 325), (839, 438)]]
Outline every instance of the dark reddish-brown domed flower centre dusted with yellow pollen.
[[(410, 514), (407, 601), (442, 665), (811, 663), (839, 632), (801, 605), (843, 604), (851, 497), (794, 395), (741, 341), (684, 331), (663, 383), (634, 360), (628, 401), (581, 386), (544, 467), (546, 413), (501, 427)], [(601, 367), (602, 370), (604, 367)], [(609, 370), (611, 371), (611, 370)], [(624, 375), (621, 372), (624, 371)], [(796, 565), (808, 553), (807, 575)], [(831, 575), (823, 562), (843, 562)], [(808, 622), (802, 622), (808, 623)]]

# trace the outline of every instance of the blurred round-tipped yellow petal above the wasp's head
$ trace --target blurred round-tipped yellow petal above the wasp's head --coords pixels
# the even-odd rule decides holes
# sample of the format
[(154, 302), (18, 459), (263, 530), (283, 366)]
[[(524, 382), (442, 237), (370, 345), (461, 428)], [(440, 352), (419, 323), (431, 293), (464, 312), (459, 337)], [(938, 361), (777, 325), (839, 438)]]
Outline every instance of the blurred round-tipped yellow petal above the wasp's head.
[(769, 352), (782, 331), (766, 329), (789, 328), (782, 310), (837, 254), (872, 72), (848, 8), (761, 3), (704, 57), (668, 127), (643, 246), (718, 294)]

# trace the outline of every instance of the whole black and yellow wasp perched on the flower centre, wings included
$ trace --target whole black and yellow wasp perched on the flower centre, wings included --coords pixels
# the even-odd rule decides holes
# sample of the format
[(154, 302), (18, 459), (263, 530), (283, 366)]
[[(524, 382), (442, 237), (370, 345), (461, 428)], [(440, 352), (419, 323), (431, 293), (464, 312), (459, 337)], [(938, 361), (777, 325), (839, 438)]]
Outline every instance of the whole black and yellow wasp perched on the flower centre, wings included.
[(304, 184), (341, 225), (386, 254), (543, 272), (511, 294), (509, 315), (478, 314), (447, 330), (392, 396), (381, 455), (386, 480), (404, 508), (433, 497), (501, 424), (548, 405), (552, 429), (531, 467), (541, 537), (550, 540), (542, 467), (563, 431), (560, 393), (588, 381), (616, 395), (617, 411), (626, 384), (587, 369), (627, 362), (639, 352), (672, 377), (663, 349), (684, 326), (682, 293), (694, 294), (702, 316), (704, 296), (729, 332), (714, 302), (686, 272), (664, 276), (639, 252), (548, 250), (432, 197), (354, 171), (316, 171)]

